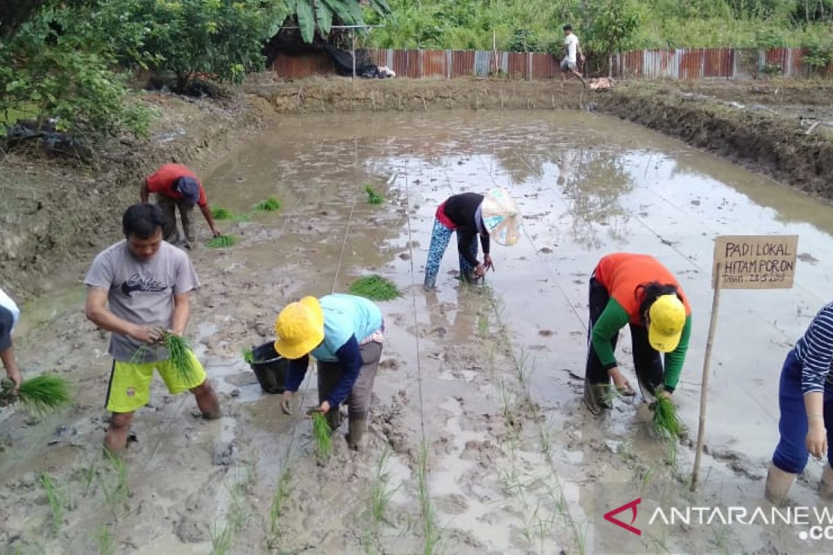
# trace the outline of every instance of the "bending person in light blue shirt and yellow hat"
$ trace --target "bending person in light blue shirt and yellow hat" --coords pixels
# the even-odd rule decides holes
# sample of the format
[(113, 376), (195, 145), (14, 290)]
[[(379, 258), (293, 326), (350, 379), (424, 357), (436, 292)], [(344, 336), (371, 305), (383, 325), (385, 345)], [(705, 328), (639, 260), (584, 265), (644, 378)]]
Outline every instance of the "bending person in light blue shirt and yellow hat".
[(347, 401), (347, 443), (357, 449), (367, 429), (383, 330), (382, 311), (362, 297), (304, 297), (287, 305), (275, 320), (275, 350), (290, 361), (283, 411), (292, 414), (292, 394), (301, 386), (312, 354), (318, 367), (318, 410), (337, 429), (341, 424), (338, 407)]

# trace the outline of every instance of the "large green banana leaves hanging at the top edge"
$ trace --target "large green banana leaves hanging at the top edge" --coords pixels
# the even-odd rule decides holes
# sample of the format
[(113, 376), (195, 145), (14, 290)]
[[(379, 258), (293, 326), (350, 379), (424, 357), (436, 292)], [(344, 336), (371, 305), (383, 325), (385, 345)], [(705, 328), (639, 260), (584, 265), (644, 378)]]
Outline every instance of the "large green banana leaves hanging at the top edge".
[(375, 10), (381, 17), (391, 13), (387, 0), (290, 0), (289, 6), (298, 20), (304, 42), (312, 42), (315, 33), (327, 35), (336, 22), (344, 25), (362, 25), (362, 5)]

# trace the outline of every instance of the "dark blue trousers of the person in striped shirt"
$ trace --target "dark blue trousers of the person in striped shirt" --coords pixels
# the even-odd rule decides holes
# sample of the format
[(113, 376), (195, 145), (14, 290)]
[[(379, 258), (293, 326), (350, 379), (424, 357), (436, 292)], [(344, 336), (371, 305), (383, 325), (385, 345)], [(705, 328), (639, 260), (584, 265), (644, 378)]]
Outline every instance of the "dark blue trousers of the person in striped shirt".
[[(833, 461), (833, 385), (828, 379), (825, 386), (825, 428), (827, 429), (827, 461)], [(786, 355), (784, 368), (781, 369), (781, 384), (778, 387), (778, 406), (781, 420), (778, 430), (781, 441), (778, 442), (772, 463), (781, 470), (801, 473), (807, 464), (810, 453), (807, 451), (806, 439), (807, 410), (804, 406), (804, 393), (801, 391), (801, 361), (793, 351)]]

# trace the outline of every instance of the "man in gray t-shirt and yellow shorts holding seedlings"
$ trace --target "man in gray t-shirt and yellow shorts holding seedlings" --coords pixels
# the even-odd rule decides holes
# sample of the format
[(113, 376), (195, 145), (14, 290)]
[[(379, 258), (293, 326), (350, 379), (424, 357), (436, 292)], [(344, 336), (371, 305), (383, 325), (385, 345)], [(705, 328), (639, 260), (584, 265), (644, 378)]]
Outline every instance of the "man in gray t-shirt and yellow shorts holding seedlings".
[(87, 318), (112, 332), (107, 388), (112, 419), (104, 439), (112, 452), (125, 447), (134, 411), (150, 399), (154, 369), (169, 392), (190, 390), (206, 418), (220, 416), (217, 396), (197, 357), (190, 353), (192, 371), (183, 376), (160, 344), (162, 330), (184, 333), (191, 315), (190, 292), (199, 286), (188, 255), (162, 240), (164, 224), (157, 206), (128, 208), (122, 219), (125, 239), (99, 253), (84, 278)]

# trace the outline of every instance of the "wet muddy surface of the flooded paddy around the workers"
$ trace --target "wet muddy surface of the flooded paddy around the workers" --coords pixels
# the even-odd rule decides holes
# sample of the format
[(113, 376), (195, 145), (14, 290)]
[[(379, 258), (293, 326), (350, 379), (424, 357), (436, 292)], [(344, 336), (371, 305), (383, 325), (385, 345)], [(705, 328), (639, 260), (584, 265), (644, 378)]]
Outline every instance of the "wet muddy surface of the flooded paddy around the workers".
[[(617, 399), (601, 418), (581, 403), (596, 261), (645, 252), (679, 276), (694, 330), (675, 399), (693, 437), (714, 237), (797, 234), (796, 286), (727, 291), (712, 361), (697, 501), (723, 489), (760, 502), (781, 362), (829, 301), (826, 202), (639, 126), (566, 111), (387, 114), (361, 125), (287, 117), (218, 160), (205, 181), (212, 204), (235, 213), (267, 196), (283, 205), (221, 222), (237, 246), (192, 253), (202, 288), (190, 334), (223, 418), (197, 418), (192, 399), (155, 381), (119, 495), (117, 468), (100, 452), (110, 359), (105, 335), (84, 319), (79, 285), (94, 253), (79, 255), (54, 295), (27, 306), (17, 335), (24, 372), (61, 372), (77, 404), (45, 419), (0, 414), (0, 542), (12, 552), (212, 553), (232, 530), (229, 553), (619, 553), (618, 528), (599, 523), (612, 508), (599, 488), (670, 484), (666, 494), (682, 498), (693, 448), (686, 440), (669, 456), (641, 397)], [(367, 204), (365, 185), (386, 202)], [(436, 205), (491, 186), (519, 201), (523, 240), (495, 245), (496, 272), (476, 287), (458, 285), (451, 245), (426, 294)], [(365, 448), (348, 451), (340, 429), (321, 465), (309, 420), (283, 415), (277, 396), (262, 394), (241, 351), (272, 338), (287, 302), (345, 291), (368, 273), (404, 296), (380, 304), (387, 336)], [(617, 355), (635, 383), (627, 334)], [(302, 407), (314, 404), (314, 370), (300, 396)], [(54, 527), (44, 473), (68, 499)], [(811, 461), (796, 503), (816, 503), (820, 474)], [(380, 483), (389, 503), (374, 516)], [(633, 553), (826, 551), (789, 527), (649, 531)]]

